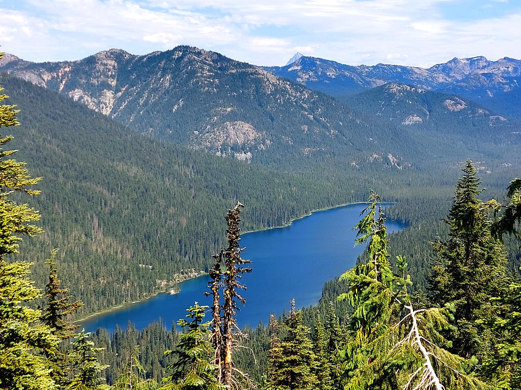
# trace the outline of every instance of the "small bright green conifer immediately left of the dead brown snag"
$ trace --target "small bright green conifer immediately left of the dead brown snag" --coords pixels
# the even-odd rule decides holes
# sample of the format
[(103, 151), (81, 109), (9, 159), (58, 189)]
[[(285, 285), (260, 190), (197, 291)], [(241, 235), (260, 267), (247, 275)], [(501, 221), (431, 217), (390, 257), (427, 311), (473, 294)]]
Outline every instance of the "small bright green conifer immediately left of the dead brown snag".
[(199, 306), (197, 302), (194, 306), (187, 309), (187, 318), (192, 320), (180, 319), (177, 324), (182, 327), (184, 333), (177, 348), (173, 351), (168, 350), (165, 355), (175, 354), (177, 361), (169, 367), (173, 374), (164, 378), (167, 384), (162, 390), (222, 390), (225, 386), (221, 385), (216, 377), (217, 365), (209, 362), (212, 357), (212, 347), (209, 341), (210, 332), (208, 327), (210, 321), (203, 322), (204, 311), (208, 306)]

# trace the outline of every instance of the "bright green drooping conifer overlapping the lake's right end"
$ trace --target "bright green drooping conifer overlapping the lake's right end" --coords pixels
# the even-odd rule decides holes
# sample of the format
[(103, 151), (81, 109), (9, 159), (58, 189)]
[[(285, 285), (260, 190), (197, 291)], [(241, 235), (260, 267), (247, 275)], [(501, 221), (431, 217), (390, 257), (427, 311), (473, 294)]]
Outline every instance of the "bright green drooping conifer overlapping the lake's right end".
[[(403, 290), (396, 290), (396, 278), (392, 274), (387, 250), (387, 228), (385, 217), (377, 204), (378, 194), (371, 191), (370, 204), (362, 211), (365, 214), (355, 225), (357, 239), (355, 245), (367, 241), (368, 261), (357, 264), (341, 276), (348, 281), (349, 292), (339, 296), (348, 300), (353, 307), (349, 319), (348, 342), (344, 348), (344, 381), (348, 388), (363, 390), (359, 383), (360, 371), (375, 360), (381, 351), (374, 342), (399, 317), (402, 304), (398, 297)], [(387, 381), (394, 381), (394, 373), (388, 372)], [(373, 384), (374, 385), (374, 384)]]

